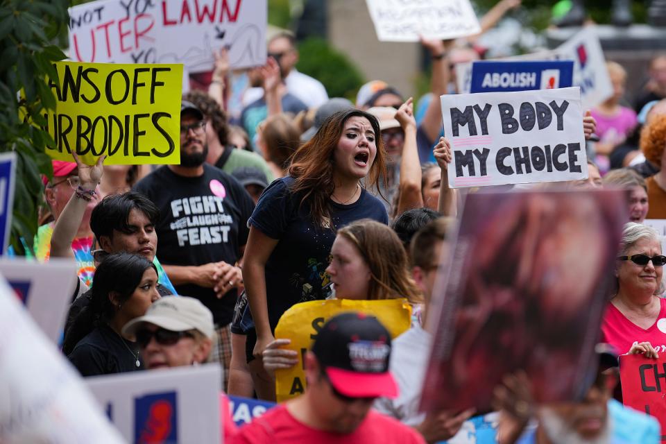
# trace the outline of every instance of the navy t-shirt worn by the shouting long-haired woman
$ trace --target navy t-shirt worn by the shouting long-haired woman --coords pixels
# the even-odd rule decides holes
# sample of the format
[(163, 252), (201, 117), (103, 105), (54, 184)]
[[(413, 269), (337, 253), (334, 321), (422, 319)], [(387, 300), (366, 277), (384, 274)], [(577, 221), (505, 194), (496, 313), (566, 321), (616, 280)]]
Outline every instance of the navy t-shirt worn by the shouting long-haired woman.
[[(330, 278), (325, 273), (330, 262), (335, 232), (316, 227), (307, 202), (291, 192), (291, 177), (274, 180), (259, 198), (248, 224), (271, 239), (279, 239), (266, 262), (266, 302), (271, 330), (280, 316), (298, 302), (325, 299), (330, 293)], [(359, 199), (350, 205), (330, 200), (334, 228), (359, 219), (388, 224), (384, 204), (361, 189)]]

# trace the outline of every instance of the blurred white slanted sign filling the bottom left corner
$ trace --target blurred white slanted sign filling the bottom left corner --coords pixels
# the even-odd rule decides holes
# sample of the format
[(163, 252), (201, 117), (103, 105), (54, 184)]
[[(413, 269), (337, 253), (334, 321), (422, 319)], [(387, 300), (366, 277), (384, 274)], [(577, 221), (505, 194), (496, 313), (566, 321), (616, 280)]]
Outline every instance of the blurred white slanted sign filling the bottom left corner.
[(76, 370), (40, 332), (2, 278), (0, 442), (125, 442), (105, 418)]

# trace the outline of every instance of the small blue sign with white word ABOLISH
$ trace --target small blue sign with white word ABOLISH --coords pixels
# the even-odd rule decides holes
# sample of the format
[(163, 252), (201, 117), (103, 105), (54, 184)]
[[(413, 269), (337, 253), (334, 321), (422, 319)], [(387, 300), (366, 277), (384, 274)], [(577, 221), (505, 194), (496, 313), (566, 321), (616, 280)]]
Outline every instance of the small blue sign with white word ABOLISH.
[(483, 60), (472, 63), (470, 92), (565, 88), (572, 85), (573, 76), (573, 60), (543, 62)]

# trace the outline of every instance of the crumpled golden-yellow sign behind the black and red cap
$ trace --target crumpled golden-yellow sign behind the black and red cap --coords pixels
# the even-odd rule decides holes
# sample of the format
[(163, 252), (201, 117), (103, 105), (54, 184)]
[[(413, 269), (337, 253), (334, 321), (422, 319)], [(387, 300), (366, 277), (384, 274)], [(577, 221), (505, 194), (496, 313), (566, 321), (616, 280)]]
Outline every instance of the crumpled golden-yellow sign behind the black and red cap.
[(407, 299), (330, 299), (293, 305), (284, 312), (275, 327), (275, 338), (291, 339), (287, 348), (298, 352), (296, 366), (275, 371), (275, 393), (278, 402), (296, 398), (305, 391), (303, 356), (327, 319), (345, 311), (360, 311), (377, 316), (379, 322), (391, 333), (391, 338), (402, 334), (411, 325), (411, 306)]

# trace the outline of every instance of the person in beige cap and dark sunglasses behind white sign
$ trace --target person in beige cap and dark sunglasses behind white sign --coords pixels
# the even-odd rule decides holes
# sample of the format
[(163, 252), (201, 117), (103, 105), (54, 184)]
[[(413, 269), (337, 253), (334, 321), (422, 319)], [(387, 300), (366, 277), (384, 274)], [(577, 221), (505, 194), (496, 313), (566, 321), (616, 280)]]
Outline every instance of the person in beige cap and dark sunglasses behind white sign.
[[(157, 300), (144, 316), (123, 327), (124, 336), (136, 338), (148, 370), (203, 364), (214, 334), (211, 311), (187, 296)], [(220, 393), (220, 413), (226, 441), (236, 433), (236, 426), (224, 393)]]

